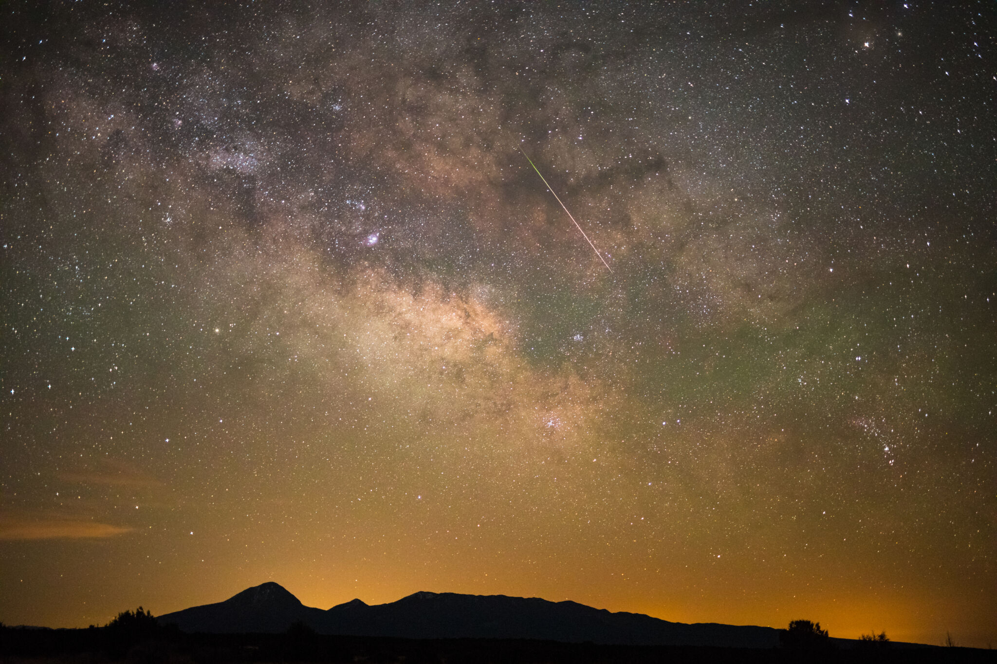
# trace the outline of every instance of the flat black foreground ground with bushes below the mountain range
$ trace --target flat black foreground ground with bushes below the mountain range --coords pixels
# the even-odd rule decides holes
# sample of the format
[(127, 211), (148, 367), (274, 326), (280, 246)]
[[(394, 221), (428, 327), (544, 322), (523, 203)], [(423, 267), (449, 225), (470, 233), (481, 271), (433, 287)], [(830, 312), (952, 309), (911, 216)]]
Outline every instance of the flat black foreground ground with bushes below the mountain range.
[(214, 664), (226, 662), (563, 663), (623, 662), (997, 662), (971, 648), (831, 649), (718, 648), (562, 643), (530, 639), (404, 639), (330, 636), (306, 627), (286, 634), (185, 634), (164, 629), (142, 636), (107, 628), (0, 628), (0, 663)]

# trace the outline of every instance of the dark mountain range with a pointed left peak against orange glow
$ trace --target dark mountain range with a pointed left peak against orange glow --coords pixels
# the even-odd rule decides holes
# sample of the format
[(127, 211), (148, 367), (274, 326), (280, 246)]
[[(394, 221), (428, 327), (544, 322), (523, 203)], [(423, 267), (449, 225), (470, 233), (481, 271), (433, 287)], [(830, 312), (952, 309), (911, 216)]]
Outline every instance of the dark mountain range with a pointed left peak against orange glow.
[(257, 585), (215, 604), (157, 618), (185, 632), (276, 633), (303, 622), (320, 634), (416, 639), (546, 639), (631, 645), (704, 645), (770, 648), (771, 627), (669, 622), (642, 613), (613, 613), (573, 601), (537, 597), (416, 592), (387, 604), (360, 599), (328, 610), (302, 604), (274, 582)]

